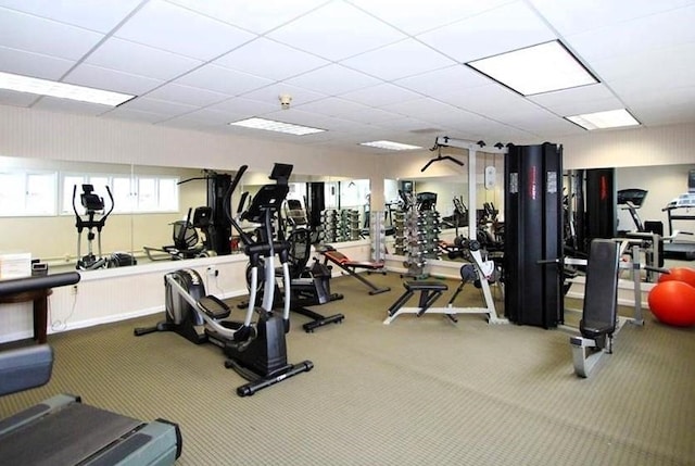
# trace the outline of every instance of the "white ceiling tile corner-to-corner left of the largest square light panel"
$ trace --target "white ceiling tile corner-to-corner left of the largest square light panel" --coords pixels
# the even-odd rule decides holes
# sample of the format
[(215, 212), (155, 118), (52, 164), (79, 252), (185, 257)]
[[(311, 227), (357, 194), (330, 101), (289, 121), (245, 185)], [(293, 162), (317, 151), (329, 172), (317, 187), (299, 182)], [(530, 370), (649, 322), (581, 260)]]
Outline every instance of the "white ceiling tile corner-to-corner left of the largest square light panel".
[(342, 65), (384, 80), (393, 80), (456, 64), (415, 39), (405, 39), (343, 60)]

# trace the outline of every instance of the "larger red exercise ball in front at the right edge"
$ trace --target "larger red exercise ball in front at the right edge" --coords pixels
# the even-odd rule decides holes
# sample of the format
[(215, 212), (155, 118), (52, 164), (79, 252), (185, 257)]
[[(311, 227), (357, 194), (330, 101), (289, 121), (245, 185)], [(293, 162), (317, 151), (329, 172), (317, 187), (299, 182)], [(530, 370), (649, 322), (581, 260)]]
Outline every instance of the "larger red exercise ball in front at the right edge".
[(661, 323), (675, 327), (695, 325), (695, 287), (684, 281), (657, 284), (648, 297), (652, 313)]

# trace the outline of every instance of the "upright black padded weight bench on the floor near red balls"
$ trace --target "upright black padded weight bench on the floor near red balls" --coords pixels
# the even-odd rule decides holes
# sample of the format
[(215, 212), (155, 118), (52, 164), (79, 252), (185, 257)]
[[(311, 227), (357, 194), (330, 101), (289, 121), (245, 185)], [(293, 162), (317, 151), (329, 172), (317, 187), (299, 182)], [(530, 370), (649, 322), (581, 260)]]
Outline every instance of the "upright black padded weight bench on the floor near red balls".
[(612, 353), (612, 337), (618, 325), (619, 244), (594, 239), (586, 264), (584, 306), (579, 323), (580, 336), (570, 337), (574, 371), (589, 377), (605, 354)]

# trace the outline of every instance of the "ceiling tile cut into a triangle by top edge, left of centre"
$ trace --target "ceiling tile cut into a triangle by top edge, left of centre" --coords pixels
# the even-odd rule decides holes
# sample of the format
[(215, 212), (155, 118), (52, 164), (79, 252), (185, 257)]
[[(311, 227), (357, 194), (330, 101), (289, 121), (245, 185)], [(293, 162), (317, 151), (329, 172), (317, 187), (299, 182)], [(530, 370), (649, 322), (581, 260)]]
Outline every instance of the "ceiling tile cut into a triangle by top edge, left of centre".
[(327, 0), (168, 1), (257, 34), (275, 29), (327, 2)]

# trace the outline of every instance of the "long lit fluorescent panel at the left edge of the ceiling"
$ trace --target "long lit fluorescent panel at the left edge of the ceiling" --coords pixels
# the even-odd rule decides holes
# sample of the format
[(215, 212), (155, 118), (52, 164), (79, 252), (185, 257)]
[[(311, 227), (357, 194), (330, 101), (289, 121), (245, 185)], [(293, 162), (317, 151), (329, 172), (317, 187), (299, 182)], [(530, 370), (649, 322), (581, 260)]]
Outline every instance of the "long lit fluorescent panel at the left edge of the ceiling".
[(135, 97), (127, 93), (112, 92), (110, 90), (93, 89), (10, 73), (0, 73), (0, 89), (36, 93), (37, 96), (50, 96), (59, 99), (78, 100), (80, 102), (99, 103), (109, 106), (119, 105)]

